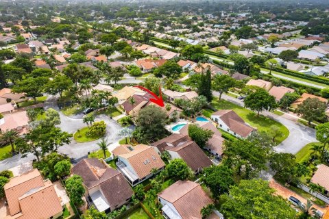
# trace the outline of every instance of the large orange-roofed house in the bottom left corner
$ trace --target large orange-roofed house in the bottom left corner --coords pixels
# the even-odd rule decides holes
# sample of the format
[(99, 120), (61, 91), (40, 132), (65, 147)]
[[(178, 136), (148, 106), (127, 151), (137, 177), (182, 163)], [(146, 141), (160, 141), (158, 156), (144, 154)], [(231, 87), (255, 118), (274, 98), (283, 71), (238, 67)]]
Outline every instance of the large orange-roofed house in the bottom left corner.
[(10, 216), (6, 218), (58, 218), (62, 215), (53, 183), (42, 179), (37, 169), (13, 177), (4, 186)]

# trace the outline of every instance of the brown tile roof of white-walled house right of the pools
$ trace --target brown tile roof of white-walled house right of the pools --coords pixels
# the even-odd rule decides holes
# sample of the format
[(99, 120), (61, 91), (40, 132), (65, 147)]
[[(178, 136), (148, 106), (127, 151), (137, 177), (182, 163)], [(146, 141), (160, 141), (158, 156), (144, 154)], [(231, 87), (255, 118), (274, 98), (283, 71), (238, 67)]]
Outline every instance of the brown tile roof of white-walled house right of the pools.
[(250, 127), (245, 121), (233, 110), (219, 110), (212, 115), (219, 116), (223, 123), (225, 123), (230, 130), (237, 133), (239, 136), (246, 138), (249, 133), (254, 131), (253, 127)]

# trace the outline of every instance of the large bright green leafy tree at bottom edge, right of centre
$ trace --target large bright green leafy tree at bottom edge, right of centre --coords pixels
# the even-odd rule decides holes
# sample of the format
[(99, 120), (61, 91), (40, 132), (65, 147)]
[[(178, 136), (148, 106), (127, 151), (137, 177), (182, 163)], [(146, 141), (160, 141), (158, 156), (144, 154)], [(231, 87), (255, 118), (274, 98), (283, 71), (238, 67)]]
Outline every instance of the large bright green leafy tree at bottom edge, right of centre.
[(221, 198), (220, 211), (228, 219), (293, 219), (297, 214), (262, 179), (242, 180), (230, 189), (230, 194), (223, 194)]

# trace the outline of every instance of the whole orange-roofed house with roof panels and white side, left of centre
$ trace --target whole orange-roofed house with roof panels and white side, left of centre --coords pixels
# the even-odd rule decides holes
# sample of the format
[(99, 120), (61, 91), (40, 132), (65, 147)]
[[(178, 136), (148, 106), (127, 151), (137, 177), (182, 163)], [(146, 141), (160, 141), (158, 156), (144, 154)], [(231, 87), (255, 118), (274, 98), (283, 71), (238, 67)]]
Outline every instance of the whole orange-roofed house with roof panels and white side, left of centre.
[(128, 153), (118, 155), (117, 167), (130, 185), (149, 179), (154, 175), (152, 170), (164, 169), (164, 162), (153, 147), (145, 144), (127, 147)]

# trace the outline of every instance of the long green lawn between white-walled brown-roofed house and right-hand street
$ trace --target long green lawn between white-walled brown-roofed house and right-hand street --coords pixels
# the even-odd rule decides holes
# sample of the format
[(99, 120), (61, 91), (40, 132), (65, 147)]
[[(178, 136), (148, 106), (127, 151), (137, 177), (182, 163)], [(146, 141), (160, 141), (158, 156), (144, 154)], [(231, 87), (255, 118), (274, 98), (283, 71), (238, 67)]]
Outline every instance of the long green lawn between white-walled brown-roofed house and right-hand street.
[(245, 120), (246, 123), (248, 123), (252, 127), (256, 127), (258, 131), (269, 132), (271, 131), (271, 128), (273, 126), (279, 127), (283, 135), (276, 139), (276, 144), (279, 144), (289, 136), (289, 130), (287, 129), (287, 127), (284, 127), (284, 125), (278, 123), (275, 120), (272, 120), (271, 118), (267, 118), (261, 115), (257, 116), (257, 114), (255, 114), (251, 110), (243, 108), (239, 105), (235, 105), (234, 103), (231, 103), (229, 101), (225, 101), (225, 100), (219, 101), (217, 98), (214, 99), (211, 102), (211, 104), (217, 110), (234, 110), (234, 112), (236, 112), (236, 114), (241, 116), (241, 118), (243, 118), (243, 120)]

